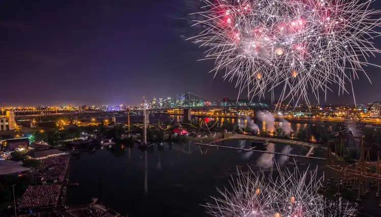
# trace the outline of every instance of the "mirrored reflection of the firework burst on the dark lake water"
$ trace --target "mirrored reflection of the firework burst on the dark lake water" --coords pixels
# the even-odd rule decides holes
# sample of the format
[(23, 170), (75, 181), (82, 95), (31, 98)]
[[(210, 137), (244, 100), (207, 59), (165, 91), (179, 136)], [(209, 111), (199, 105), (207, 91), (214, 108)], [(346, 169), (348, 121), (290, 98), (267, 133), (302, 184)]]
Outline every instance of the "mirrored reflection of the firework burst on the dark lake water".
[[(302, 172), (295, 168), (291, 172), (276, 168), (278, 174), (239, 173), (236, 182), (231, 182), (232, 192), (218, 190), (221, 197), (213, 197), (215, 203), (205, 205), (208, 213), (218, 217), (325, 216), (328, 206), (319, 194), (322, 178), (317, 177), (317, 170)], [(335, 208), (340, 216), (354, 215), (355, 205), (344, 204), (341, 199), (338, 203)]]

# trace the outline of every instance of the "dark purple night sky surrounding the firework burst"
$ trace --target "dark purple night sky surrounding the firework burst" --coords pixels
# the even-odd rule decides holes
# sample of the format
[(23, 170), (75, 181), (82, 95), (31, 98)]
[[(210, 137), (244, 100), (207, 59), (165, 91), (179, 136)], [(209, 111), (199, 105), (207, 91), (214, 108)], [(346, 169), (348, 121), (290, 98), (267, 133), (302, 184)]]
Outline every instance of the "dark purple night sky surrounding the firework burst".
[[(184, 40), (192, 34), (182, 22), (189, 12), (184, 1), (1, 1), (0, 103), (131, 105), (143, 95), (150, 100), (186, 91), (210, 100), (237, 98), (222, 74), (208, 74), (213, 61), (197, 61), (202, 50)], [(380, 64), (381, 55), (369, 60)], [(355, 81), (358, 103), (381, 100), (380, 69), (366, 71), (372, 84), (364, 75)], [(353, 103), (337, 90), (326, 103)]]

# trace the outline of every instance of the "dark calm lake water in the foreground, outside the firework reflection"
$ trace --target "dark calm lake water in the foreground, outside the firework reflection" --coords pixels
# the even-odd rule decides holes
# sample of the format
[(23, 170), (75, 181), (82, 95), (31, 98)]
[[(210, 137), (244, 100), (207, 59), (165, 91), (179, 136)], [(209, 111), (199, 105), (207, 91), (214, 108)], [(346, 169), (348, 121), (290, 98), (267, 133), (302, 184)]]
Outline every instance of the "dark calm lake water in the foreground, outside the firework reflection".
[[(250, 142), (225, 141), (224, 145), (249, 147)], [(276, 152), (282, 152), (286, 145), (274, 146)], [(205, 153), (207, 148), (201, 150)], [(292, 146), (291, 153), (305, 155), (308, 150), (309, 147)], [(259, 161), (268, 160), (267, 155), (249, 156), (222, 148), (210, 148), (202, 154), (191, 142), (173, 144), (161, 151), (154, 147), (144, 152), (135, 145), (132, 149), (105, 147), (95, 153), (82, 152), (71, 160), (70, 180), (80, 185), (68, 187), (67, 202), (87, 204), (96, 197), (105, 206), (130, 216), (204, 216), (205, 208), (199, 204), (210, 201), (210, 196), (218, 196), (216, 187), (228, 186), (237, 167), (243, 171), (247, 171), (247, 165), (255, 169)], [(274, 159), (279, 161), (281, 157), (275, 155)], [(305, 168), (308, 164), (314, 168), (324, 166), (324, 161), (298, 160), (298, 166), (306, 164), (301, 166)], [(293, 162), (289, 159), (285, 166), (291, 169)], [(266, 162), (261, 165), (266, 166)]]

